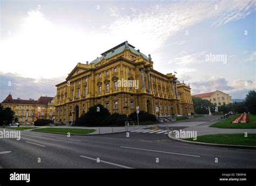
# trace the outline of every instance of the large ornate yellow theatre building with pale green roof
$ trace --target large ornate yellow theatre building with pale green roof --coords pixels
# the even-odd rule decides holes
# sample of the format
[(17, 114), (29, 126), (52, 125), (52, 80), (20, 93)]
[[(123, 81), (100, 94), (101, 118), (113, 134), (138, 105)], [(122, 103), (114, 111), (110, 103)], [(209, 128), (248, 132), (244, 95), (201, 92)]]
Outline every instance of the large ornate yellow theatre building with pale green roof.
[(96, 104), (127, 115), (137, 106), (162, 117), (194, 112), (190, 86), (172, 73), (154, 70), (150, 54), (145, 56), (127, 41), (90, 64), (78, 63), (56, 87), (57, 122), (76, 121)]

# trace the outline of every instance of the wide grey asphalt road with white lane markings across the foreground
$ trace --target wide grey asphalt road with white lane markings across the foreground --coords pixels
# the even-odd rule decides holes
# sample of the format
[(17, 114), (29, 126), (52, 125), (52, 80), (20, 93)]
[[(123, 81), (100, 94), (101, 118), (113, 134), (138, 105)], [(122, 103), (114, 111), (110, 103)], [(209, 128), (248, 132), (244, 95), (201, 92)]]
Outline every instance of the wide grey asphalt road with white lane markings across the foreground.
[(256, 168), (256, 150), (181, 143), (166, 134), (67, 137), (21, 131), (21, 140), (0, 139), (0, 144), (3, 168)]

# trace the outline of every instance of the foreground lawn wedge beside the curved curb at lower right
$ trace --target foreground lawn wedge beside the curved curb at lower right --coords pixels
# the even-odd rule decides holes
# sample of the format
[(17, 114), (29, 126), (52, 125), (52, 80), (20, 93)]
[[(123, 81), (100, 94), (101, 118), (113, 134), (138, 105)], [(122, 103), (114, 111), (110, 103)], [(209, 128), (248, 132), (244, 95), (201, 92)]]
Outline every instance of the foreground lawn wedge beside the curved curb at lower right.
[(256, 134), (215, 134), (197, 136), (197, 140), (192, 138), (185, 139), (187, 141), (217, 143), (217, 144), (236, 144), (241, 146), (256, 146)]

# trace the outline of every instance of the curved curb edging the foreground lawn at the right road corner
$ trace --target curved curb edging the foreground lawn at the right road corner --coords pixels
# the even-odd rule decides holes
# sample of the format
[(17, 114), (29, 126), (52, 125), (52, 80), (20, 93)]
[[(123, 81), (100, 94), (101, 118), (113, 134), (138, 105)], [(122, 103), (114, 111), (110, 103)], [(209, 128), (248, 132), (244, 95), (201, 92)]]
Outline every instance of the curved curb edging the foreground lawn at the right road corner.
[(183, 143), (190, 143), (190, 144), (198, 144), (201, 146), (212, 146), (212, 147), (225, 147), (225, 148), (239, 148), (239, 149), (253, 149), (256, 150), (256, 146), (239, 146), (235, 144), (216, 144), (216, 143), (203, 143), (203, 142), (194, 142), (194, 141), (186, 141), (186, 140), (181, 140), (177, 139), (175, 137), (171, 136), (171, 133), (168, 134), (169, 139), (174, 140), (174, 141), (179, 141)]

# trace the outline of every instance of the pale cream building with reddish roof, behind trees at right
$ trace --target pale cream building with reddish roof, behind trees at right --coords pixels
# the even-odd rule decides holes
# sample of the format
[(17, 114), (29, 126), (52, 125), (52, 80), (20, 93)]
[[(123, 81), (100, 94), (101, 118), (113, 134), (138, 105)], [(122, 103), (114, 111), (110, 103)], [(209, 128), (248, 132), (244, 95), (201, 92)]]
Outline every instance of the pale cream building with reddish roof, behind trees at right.
[(193, 97), (205, 99), (211, 101), (215, 106), (221, 106), (226, 104), (232, 104), (232, 97), (221, 91), (207, 92), (203, 94), (193, 95)]

